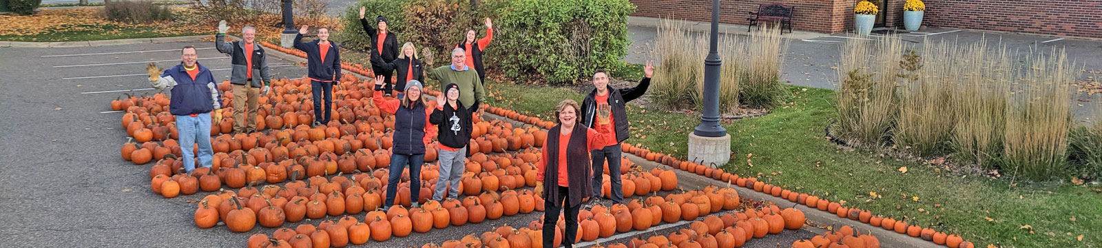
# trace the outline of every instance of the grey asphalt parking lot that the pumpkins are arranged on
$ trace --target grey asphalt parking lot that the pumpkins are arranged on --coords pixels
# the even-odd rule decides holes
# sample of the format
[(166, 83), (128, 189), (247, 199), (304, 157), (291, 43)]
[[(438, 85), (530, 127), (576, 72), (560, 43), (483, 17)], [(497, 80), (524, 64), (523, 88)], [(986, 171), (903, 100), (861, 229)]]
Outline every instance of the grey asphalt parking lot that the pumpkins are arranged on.
[[(6, 239), (4, 247), (242, 247), (251, 234), (274, 231), (259, 226), (248, 234), (222, 226), (196, 228), (195, 204), (187, 202), (205, 194), (165, 200), (149, 190), (151, 164), (133, 165), (119, 158), (127, 134), (119, 123), (122, 114), (110, 110), (110, 100), (123, 94), (155, 94), (145, 64), (173, 66), (180, 61), (180, 48), (188, 44), (197, 47), (199, 64), (210, 68), (216, 79), (228, 79), (229, 57), (214, 50), (213, 42), (0, 48), (0, 73), (9, 75), (0, 80), (0, 237)], [(268, 63), (273, 78), (298, 78), (306, 71), (276, 56)], [(440, 244), (500, 225), (525, 227), (540, 215), (507, 216), (368, 246)], [(646, 238), (684, 226), (688, 222), (601, 241)], [(786, 231), (746, 247), (776, 247), (812, 235)]]

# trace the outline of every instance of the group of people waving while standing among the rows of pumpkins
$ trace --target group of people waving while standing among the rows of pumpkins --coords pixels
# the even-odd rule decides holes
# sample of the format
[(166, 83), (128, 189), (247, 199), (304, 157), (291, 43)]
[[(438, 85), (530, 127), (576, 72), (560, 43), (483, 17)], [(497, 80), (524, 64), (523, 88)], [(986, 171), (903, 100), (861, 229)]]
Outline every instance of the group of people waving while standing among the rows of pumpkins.
[[(385, 112), (395, 115), (393, 147), (389, 164), (389, 183), (385, 208), (395, 205), (398, 182), (402, 172), (409, 169), (410, 185), (420, 184), (421, 165), (425, 149), (431, 142), (428, 133), (436, 132), (440, 142), (440, 177), (432, 200), (458, 197), (460, 177), (465, 169), (467, 149), (473, 130), (474, 115), (482, 115), (484, 98), (485, 67), (483, 51), (493, 40), (493, 23), (486, 19), (486, 35), (476, 40), (477, 32), (471, 29), (462, 42), (451, 53), (451, 63), (435, 68), (431, 53), (422, 62), (413, 43), (406, 42), (398, 47), (398, 37), (387, 29), (387, 19), (377, 17), (375, 26), (365, 19), (360, 8), (360, 24), (370, 36), (368, 50), (371, 68), (376, 74), (372, 103)], [(225, 42), (228, 26), (225, 21), (218, 25), (215, 46), (231, 56), (230, 84), (234, 93), (234, 131), (256, 131), (257, 100), (270, 90), (270, 74), (264, 50), (257, 45), (256, 30), (245, 26), (241, 41)], [(329, 122), (333, 101), (333, 84), (341, 82), (341, 51), (328, 40), (325, 28), (316, 30), (316, 40), (303, 42), (309, 26), (303, 25), (294, 39), (294, 47), (306, 53), (307, 77), (311, 80), (314, 101), (314, 122), (324, 126)], [(161, 71), (150, 63), (147, 71), (154, 88), (171, 89), (170, 112), (176, 117), (184, 169), (191, 173), (195, 169), (196, 154), (192, 148), (198, 144), (198, 162), (212, 165), (210, 126), (222, 121), (222, 97), (210, 71), (197, 62), (194, 46), (181, 50), (181, 64)], [(423, 64), (422, 64), (423, 63)], [(393, 78), (397, 73), (397, 78)], [(544, 140), (542, 157), (538, 163), (537, 191), (545, 198), (543, 237), (544, 247), (550, 247), (554, 238), (554, 225), (564, 214), (566, 233), (565, 246), (572, 247), (577, 230), (577, 214), (583, 206), (605, 204), (602, 194), (605, 163), (608, 164), (611, 204), (622, 203), (624, 194), (620, 184), (620, 143), (629, 137), (625, 105), (644, 94), (650, 85), (653, 66), (644, 67), (644, 78), (635, 87), (613, 88), (608, 85), (608, 73), (597, 69), (593, 74), (594, 89), (579, 105), (566, 99), (554, 107), (555, 123)], [(440, 82), (440, 97), (435, 107), (430, 107), (424, 97), (424, 78)], [(396, 96), (387, 98), (386, 96)], [(544, 188), (544, 185), (548, 187)], [(410, 191), (413, 207), (419, 205), (419, 190)]]

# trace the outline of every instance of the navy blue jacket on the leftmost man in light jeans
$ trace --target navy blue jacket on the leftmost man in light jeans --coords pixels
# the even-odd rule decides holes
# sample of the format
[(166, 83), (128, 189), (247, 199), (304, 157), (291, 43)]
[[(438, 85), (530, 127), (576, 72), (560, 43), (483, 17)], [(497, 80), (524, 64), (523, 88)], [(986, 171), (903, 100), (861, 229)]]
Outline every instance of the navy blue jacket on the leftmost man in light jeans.
[(174, 116), (210, 112), (222, 108), (222, 96), (216, 87), (210, 69), (195, 63), (199, 73), (192, 79), (181, 63), (165, 69), (161, 78), (152, 82), (158, 89), (172, 88), (169, 100), (169, 112)]

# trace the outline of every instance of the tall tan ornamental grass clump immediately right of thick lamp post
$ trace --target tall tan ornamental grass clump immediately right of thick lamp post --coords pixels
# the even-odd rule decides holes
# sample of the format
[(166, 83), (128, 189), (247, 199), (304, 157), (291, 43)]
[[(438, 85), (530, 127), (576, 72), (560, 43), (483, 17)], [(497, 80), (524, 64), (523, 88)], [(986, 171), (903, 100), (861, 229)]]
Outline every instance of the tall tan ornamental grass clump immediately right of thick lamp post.
[(780, 82), (780, 65), (788, 41), (780, 37), (780, 29), (774, 26), (750, 33), (749, 61), (746, 84), (742, 85), (739, 98), (752, 108), (773, 108), (781, 101), (785, 85)]

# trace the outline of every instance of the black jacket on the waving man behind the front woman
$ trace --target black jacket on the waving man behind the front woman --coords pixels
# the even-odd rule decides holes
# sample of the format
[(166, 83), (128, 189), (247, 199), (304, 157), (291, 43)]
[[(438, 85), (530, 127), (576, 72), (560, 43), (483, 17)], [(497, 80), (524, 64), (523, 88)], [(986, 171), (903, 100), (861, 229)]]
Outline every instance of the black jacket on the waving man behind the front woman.
[[(627, 110), (625, 110), (625, 105), (628, 101), (639, 98), (647, 93), (647, 88), (650, 87), (650, 78), (644, 77), (639, 80), (639, 85), (631, 88), (614, 89), (612, 86), (605, 86), (608, 88), (608, 105), (613, 107), (613, 121), (615, 122), (616, 129), (616, 141), (624, 142), (630, 137), (628, 131), (628, 125), (630, 121), (627, 120)], [(585, 96), (582, 100), (582, 125), (587, 128), (594, 128), (593, 119), (596, 116), (597, 106), (597, 89), (590, 91), (590, 95)]]

